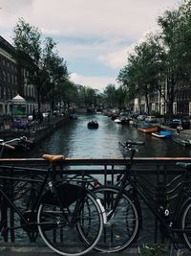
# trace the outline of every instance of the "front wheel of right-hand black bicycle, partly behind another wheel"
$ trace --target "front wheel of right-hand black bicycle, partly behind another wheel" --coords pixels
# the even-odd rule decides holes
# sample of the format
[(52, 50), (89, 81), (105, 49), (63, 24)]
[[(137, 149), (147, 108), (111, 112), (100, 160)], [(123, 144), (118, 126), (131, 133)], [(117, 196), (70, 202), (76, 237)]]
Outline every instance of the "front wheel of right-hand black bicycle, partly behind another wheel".
[[(114, 205), (113, 199), (117, 198), (119, 189), (114, 186), (100, 186), (93, 193), (99, 198), (105, 208), (106, 215)], [(112, 199), (110, 201), (110, 198)], [(138, 202), (124, 192), (119, 198), (118, 207), (112, 221), (106, 223), (96, 250), (101, 252), (118, 252), (134, 243), (141, 227), (141, 212)]]

